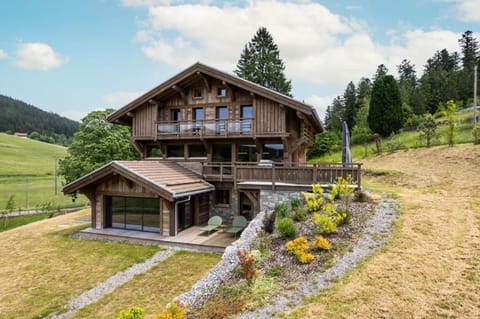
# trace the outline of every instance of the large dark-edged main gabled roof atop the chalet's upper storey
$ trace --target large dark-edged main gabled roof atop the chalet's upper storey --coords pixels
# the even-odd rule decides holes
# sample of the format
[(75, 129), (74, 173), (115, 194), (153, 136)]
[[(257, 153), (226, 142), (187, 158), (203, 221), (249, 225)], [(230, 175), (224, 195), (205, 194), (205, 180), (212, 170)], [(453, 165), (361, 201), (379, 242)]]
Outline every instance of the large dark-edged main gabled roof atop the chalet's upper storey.
[(251, 92), (253, 94), (268, 98), (272, 101), (275, 101), (277, 103), (280, 103), (282, 105), (288, 106), (290, 108), (293, 108), (294, 110), (301, 112), (305, 114), (309, 119), (314, 128), (322, 132), (323, 127), (320, 122), (320, 118), (318, 117), (317, 112), (313, 108), (313, 106), (299, 102), (295, 99), (292, 99), (289, 96), (286, 96), (284, 94), (278, 93), (274, 90), (265, 88), (261, 85), (258, 85), (256, 83), (247, 81), (245, 79), (242, 79), (236, 75), (229, 74), (220, 70), (217, 70), (215, 68), (212, 68), (210, 66), (207, 66), (203, 63), (197, 62), (193, 64), (192, 66), (188, 67), (184, 71), (178, 73), (177, 75), (173, 76), (172, 78), (168, 79), (167, 81), (163, 82), (159, 86), (153, 88), (152, 90), (148, 91), (147, 93), (143, 94), (139, 98), (133, 100), (132, 102), (128, 103), (124, 107), (120, 108), (119, 110), (113, 112), (108, 116), (108, 120), (110, 122), (117, 122), (117, 123), (123, 123), (125, 124), (127, 122), (127, 113), (133, 111), (137, 107), (143, 105), (144, 103), (150, 101), (150, 100), (156, 100), (158, 98), (164, 97), (164, 96), (171, 96), (173, 94), (176, 94), (177, 92), (173, 88), (175, 85), (179, 85), (182, 83), (191, 83), (188, 80), (191, 78), (195, 78), (196, 80), (201, 79), (201, 75), (206, 75), (211, 78), (215, 78), (221, 81), (225, 81), (228, 84), (234, 85), (236, 87), (239, 87), (241, 89), (244, 89), (248, 92)]

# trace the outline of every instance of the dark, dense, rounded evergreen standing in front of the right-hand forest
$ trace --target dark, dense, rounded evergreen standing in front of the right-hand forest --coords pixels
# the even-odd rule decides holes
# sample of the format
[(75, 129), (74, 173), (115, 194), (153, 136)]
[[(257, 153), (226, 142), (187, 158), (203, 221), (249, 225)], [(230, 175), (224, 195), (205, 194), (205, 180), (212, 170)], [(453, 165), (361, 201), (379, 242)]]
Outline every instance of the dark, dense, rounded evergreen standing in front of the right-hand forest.
[(397, 81), (391, 75), (377, 77), (373, 83), (368, 113), (371, 130), (387, 137), (402, 128), (403, 123), (402, 101)]

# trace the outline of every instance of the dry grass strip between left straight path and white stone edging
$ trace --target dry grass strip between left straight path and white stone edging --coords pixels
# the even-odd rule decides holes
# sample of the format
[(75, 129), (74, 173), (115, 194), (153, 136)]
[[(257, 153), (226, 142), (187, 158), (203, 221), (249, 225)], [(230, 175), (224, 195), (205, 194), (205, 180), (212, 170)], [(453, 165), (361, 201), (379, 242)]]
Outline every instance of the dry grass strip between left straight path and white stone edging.
[(141, 307), (146, 318), (164, 309), (220, 261), (220, 256), (177, 252), (147, 273), (117, 288), (96, 304), (80, 311), (75, 318), (116, 318), (120, 310)]

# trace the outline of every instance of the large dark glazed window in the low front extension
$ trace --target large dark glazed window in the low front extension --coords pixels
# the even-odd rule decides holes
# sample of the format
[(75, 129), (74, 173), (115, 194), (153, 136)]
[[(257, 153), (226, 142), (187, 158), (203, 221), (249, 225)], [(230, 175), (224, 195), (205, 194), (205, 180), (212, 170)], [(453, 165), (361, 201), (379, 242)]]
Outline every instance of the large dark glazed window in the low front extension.
[(112, 228), (160, 232), (158, 198), (107, 196), (105, 204)]

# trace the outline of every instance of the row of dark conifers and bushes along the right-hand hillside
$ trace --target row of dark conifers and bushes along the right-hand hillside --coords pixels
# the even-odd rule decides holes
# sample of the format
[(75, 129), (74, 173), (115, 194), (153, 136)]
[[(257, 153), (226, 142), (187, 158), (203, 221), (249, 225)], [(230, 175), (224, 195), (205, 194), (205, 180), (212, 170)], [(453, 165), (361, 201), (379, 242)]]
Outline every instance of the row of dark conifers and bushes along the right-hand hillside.
[(438, 50), (426, 61), (421, 76), (404, 59), (397, 65), (396, 78), (380, 64), (373, 79), (362, 77), (357, 85), (349, 82), (327, 108), (327, 134), (317, 138), (313, 155), (328, 152), (338, 142), (343, 121), (351, 129), (352, 143), (365, 143), (425, 125), (430, 120), (427, 115), (444, 112), (448, 101), (459, 108), (470, 106), (474, 67), (480, 62), (478, 40), (472, 31), (465, 31), (458, 42), (460, 53)]

